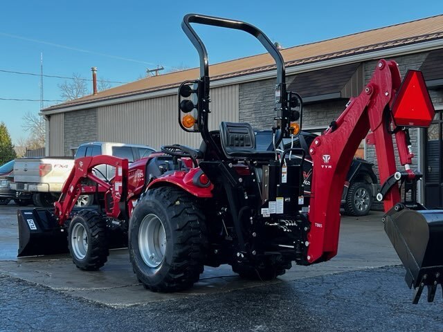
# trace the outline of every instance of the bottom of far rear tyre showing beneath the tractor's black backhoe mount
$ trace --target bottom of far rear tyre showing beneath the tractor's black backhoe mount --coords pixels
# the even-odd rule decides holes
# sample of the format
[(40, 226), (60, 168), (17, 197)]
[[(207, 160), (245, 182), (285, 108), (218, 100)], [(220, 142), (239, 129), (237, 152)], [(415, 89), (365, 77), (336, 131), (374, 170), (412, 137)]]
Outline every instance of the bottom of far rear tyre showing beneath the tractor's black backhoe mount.
[(279, 263), (261, 262), (257, 266), (237, 262), (232, 264), (233, 272), (238, 273), (241, 278), (262, 281), (272, 280), (279, 275), (284, 275), (286, 270), (289, 270), (291, 267), (290, 261)]

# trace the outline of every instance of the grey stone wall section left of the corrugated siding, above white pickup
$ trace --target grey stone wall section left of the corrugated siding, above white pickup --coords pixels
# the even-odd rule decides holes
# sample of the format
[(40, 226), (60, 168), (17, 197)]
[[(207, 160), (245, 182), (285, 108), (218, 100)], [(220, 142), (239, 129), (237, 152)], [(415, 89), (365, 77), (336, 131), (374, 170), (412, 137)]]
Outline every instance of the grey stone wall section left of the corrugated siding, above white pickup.
[(97, 140), (97, 109), (73, 111), (64, 114), (64, 154), (84, 142)]

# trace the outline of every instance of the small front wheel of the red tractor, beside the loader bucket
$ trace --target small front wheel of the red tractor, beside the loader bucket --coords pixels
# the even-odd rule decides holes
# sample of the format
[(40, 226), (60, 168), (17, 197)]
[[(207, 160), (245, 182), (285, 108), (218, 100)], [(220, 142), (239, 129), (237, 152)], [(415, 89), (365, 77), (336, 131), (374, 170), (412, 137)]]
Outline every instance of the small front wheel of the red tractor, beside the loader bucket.
[(95, 271), (105, 265), (109, 256), (106, 222), (94, 210), (75, 214), (68, 230), (69, 252), (80, 270)]

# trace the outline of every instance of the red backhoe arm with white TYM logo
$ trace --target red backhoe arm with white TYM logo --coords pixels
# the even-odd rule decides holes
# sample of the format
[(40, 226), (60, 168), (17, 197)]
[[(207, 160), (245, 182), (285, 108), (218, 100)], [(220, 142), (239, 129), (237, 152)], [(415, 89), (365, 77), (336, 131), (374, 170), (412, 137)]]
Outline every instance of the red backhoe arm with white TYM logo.
[[(388, 133), (385, 122), (386, 116), (390, 114), (385, 112), (392, 106), (400, 82), (397, 64), (380, 60), (366, 89), (357, 98), (350, 100), (350, 104), (336, 120), (336, 130), (327, 129), (323, 136), (319, 136), (311, 144), (314, 171), (308, 212), (311, 229), (307, 235), (310, 263), (325, 261), (336, 255), (343, 183), (354, 152), (369, 130), (372, 134), (368, 141), (375, 145), (380, 182), (384, 183), (390, 175), (397, 172), (392, 134)], [(408, 83), (403, 86), (408, 86)], [(405, 91), (404, 94), (407, 95), (408, 91)], [(424, 95), (424, 90), (420, 90), (416, 98), (423, 98)], [(426, 109), (430, 110), (431, 107)], [(414, 114), (419, 119), (413, 122), (424, 124), (420, 119), (426, 117), (422, 113)], [(396, 140), (402, 163), (410, 163), (412, 156), (407, 151), (406, 135), (399, 133)], [(397, 190), (388, 192), (383, 202), (385, 211), (399, 201)]]

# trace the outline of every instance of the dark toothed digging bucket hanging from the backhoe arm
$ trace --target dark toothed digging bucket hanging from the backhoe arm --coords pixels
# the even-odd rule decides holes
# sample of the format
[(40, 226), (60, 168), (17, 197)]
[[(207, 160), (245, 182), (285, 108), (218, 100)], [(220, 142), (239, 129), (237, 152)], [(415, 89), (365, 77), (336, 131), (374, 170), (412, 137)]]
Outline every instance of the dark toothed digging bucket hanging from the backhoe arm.
[(413, 303), (418, 303), (424, 286), (428, 302), (433, 302), (437, 285), (443, 282), (443, 211), (392, 210), (384, 223), (406, 268), (406, 283), (415, 289)]

